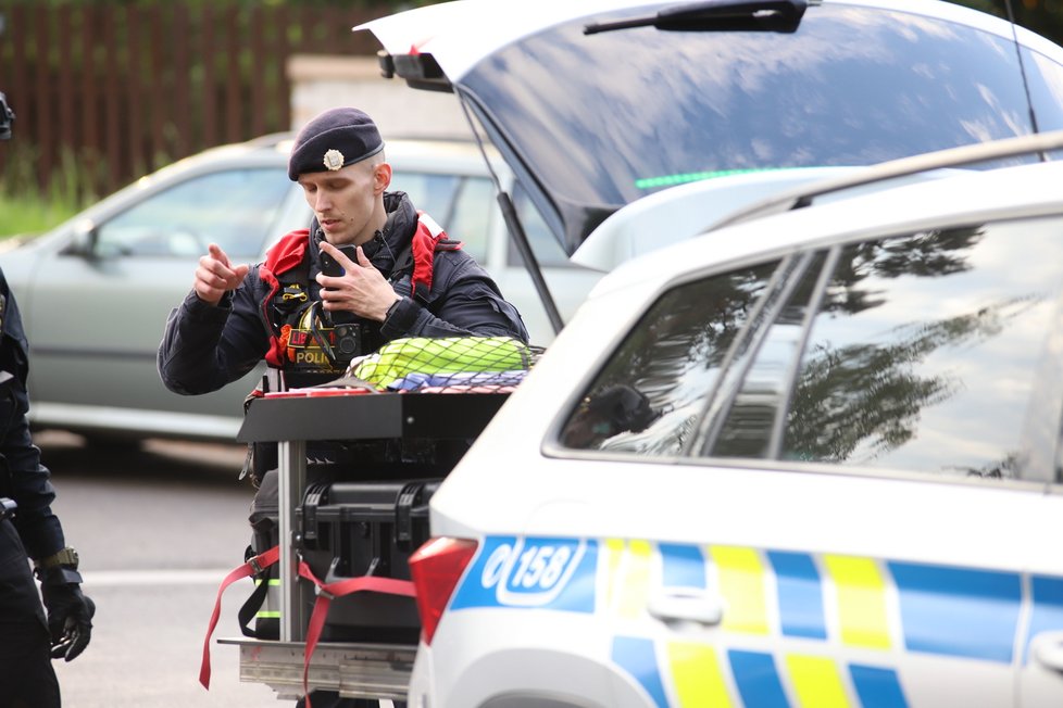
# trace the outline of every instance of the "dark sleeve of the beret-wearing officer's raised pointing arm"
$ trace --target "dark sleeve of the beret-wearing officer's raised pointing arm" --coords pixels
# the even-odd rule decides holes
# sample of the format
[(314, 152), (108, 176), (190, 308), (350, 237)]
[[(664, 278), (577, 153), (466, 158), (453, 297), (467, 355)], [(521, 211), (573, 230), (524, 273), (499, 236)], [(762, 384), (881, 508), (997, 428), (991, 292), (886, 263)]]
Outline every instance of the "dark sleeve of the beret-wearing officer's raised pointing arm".
[(258, 313), (257, 283), (249, 273), (217, 305), (189, 292), (170, 314), (157, 358), (167, 389), (184, 395), (210, 393), (262, 361), (270, 340)]

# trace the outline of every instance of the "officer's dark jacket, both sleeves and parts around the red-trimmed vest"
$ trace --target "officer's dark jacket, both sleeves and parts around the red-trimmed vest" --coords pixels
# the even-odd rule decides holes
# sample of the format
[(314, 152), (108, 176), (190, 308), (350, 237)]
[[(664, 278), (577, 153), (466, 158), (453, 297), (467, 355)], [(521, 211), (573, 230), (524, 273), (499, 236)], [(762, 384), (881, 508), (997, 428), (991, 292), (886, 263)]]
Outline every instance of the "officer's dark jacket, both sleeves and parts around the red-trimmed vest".
[[(397, 260), (409, 250), (417, 227), (417, 214), (403, 192), (385, 194), (388, 223), (383, 232), (363, 245), (373, 265), (392, 280), (403, 300), (384, 323), (365, 323), (380, 344), (402, 337), (453, 337), (483, 334), (528, 340), (516, 308), (499, 292), (493, 279), (464, 251), (437, 251), (433, 261), (432, 290), (427, 303), (410, 296), (411, 274), (393, 273)], [(314, 225), (316, 227), (316, 224)], [(318, 288), (316, 228), (311, 228), (311, 296)], [(401, 266), (401, 263), (398, 264)], [(190, 292), (166, 321), (159, 347), (158, 367), (166, 388), (176, 393), (216, 391), (261, 362), (279, 323), (268, 302), (271, 286), (252, 267), (240, 287), (226, 293), (215, 306)], [(392, 278), (392, 276), (395, 276)]]

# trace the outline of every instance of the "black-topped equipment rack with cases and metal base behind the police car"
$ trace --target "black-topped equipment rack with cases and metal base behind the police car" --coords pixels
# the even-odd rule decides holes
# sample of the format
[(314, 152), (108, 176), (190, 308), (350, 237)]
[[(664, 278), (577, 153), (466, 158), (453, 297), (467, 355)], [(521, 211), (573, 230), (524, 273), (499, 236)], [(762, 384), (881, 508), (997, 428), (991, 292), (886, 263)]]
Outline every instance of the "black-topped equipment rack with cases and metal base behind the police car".
[[(268, 634), (276, 639), (218, 640), (240, 647), (242, 681), (265, 683), (283, 698), (298, 698), (309, 685), (345, 697), (405, 699), (421, 631), (415, 600), (388, 592), (333, 597), (321, 641), (307, 652), (318, 597), (314, 583), (297, 574), (298, 560), (326, 584), (409, 579), (409, 557), (429, 538), (429, 500), (507, 397), (267, 394), (251, 403), (238, 440), (277, 444), (276, 526), (263, 541), (279, 541), (279, 559), (267, 569), (279, 582), (271, 585), (278, 596)], [(366, 464), (364, 451), (332, 469), (308, 464), (309, 446), (382, 442), (402, 448), (398, 464), (390, 455)]]

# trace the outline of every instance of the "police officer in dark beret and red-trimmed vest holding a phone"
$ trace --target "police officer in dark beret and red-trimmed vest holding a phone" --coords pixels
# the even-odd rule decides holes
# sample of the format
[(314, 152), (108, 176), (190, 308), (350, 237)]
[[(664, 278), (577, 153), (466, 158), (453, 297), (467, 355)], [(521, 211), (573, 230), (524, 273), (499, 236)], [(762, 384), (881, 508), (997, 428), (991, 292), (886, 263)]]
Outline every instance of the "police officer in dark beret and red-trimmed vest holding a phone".
[[(404, 192), (388, 191), (384, 140), (364, 112), (332, 109), (308, 123), (296, 137), (288, 176), (314, 212), (310, 228), (284, 236), (253, 267), (209, 246), (159, 347), (159, 372), (170, 390), (215, 391), (262, 359), (272, 388), (313, 385), (340, 377), (355, 356), (407, 337), (527, 343), (520, 313), (460, 242)], [(315, 443), (308, 456), (364, 469), (403, 454), (340, 447)], [(259, 491), (251, 523), (262, 539), (276, 516), (276, 470), (272, 460), (258, 459), (267, 457), (260, 448), (254, 456)], [(309, 479), (322, 479), (315, 473), (322, 472), (308, 469)], [(324, 692), (311, 698), (314, 708), (365, 705)]]

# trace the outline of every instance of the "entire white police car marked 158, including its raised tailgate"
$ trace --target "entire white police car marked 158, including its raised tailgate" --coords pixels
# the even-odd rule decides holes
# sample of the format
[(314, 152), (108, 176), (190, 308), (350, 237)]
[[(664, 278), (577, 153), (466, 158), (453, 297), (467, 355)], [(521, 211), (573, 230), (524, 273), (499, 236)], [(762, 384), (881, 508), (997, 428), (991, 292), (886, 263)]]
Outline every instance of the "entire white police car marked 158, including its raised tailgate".
[(621, 264), (432, 500), (411, 706), (1061, 705), (1063, 169), (686, 240), (802, 175), (1063, 128), (1059, 47), (921, 0), (364, 27)]

